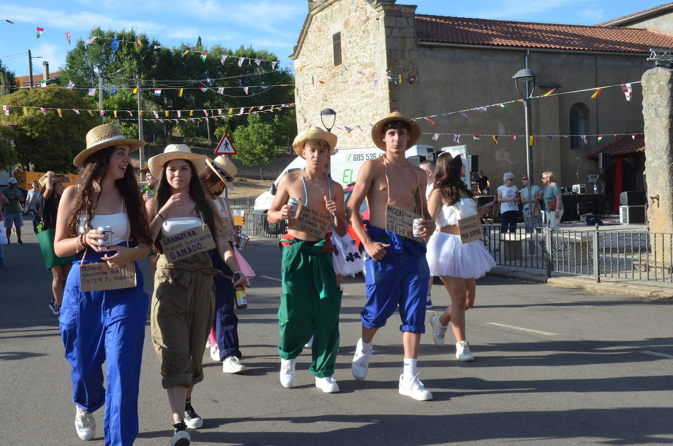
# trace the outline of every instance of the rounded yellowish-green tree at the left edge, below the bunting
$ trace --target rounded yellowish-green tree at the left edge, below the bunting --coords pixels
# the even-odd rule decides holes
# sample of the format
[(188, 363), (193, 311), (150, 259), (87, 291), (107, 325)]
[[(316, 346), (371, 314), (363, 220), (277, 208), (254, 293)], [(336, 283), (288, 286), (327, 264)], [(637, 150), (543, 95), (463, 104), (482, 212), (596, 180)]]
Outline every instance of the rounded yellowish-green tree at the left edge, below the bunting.
[[(32, 165), (38, 172), (56, 170), (75, 172), (73, 158), (85, 149), (87, 131), (98, 124), (96, 117), (85, 109), (90, 108), (72, 90), (61, 88), (23, 89), (3, 97), (7, 105), (61, 108), (63, 117), (56, 110), (28, 108), (24, 115), (19, 107), (12, 107), (4, 117), (17, 125), (13, 132), (15, 154), (26, 170)], [(73, 111), (79, 110), (79, 115)]]

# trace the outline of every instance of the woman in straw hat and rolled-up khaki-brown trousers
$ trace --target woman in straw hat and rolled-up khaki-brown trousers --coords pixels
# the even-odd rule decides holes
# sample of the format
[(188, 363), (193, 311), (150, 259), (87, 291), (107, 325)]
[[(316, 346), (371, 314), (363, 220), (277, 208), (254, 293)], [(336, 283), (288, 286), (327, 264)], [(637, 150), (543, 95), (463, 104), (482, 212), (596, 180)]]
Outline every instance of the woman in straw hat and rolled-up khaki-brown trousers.
[(197, 229), (208, 231), (224, 263), (235, 272), (236, 285), (248, 284), (199, 181), (197, 173), (204, 161), (203, 155), (192, 153), (188, 146), (170, 144), (164, 153), (147, 162), (152, 175), (159, 179), (156, 197), (146, 203), (154, 249), (159, 253), (151, 305), (152, 341), (162, 363), (162, 386), (173, 415), (173, 446), (189, 444), (187, 427), (203, 426), (203, 419), (192, 407), (191, 395), (194, 385), (203, 381), (201, 362), (213, 325), (213, 276), (218, 272), (207, 251), (168, 258), (160, 243), (162, 238), (179, 238)]

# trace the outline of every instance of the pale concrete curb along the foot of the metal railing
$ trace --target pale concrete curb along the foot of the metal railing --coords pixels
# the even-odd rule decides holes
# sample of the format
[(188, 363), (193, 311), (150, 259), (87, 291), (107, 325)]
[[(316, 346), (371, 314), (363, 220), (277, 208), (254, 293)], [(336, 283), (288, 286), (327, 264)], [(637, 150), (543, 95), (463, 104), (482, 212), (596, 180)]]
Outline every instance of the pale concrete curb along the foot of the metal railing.
[(660, 288), (658, 286), (651, 286), (647, 284), (624, 284), (620, 282), (601, 282), (596, 283), (592, 279), (573, 277), (573, 276), (557, 276), (548, 278), (544, 274), (535, 274), (530, 272), (519, 271), (517, 269), (509, 269), (496, 267), (489, 272), (489, 276), (521, 280), (524, 282), (534, 282), (547, 284), (551, 286), (558, 286), (561, 288), (577, 288), (580, 290), (588, 290), (593, 292), (606, 292), (611, 294), (628, 294), (630, 296), (641, 296), (649, 299), (673, 299), (673, 288)]

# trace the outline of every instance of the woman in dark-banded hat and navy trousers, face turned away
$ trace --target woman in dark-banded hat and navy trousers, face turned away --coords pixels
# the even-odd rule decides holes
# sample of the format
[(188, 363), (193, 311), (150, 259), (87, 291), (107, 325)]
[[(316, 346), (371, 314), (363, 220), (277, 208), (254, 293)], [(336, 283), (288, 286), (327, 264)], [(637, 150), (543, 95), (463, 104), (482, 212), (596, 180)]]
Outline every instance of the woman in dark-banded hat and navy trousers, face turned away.
[[(217, 213), (222, 219), (225, 228), (224, 236), (229, 245), (232, 246), (241, 272), (250, 279), (254, 276), (254, 271), (238, 252), (238, 249), (234, 249), (236, 232), (232, 221), (232, 212), (227, 199), (221, 196), (225, 187), (234, 181), (238, 169), (232, 160), (224, 156), (218, 156), (214, 160), (206, 158), (206, 164), (207, 166), (199, 172), (203, 190), (206, 197), (215, 205)], [(215, 249), (211, 249), (209, 254), (215, 269), (220, 269), (227, 276), (232, 275), (232, 271), (222, 261)], [(238, 344), (238, 317), (234, 312), (235, 298), (234, 284), (222, 276), (215, 276), (215, 317), (209, 336), (210, 355), (214, 361), (222, 362), (223, 373), (241, 373), (248, 369), (239, 361), (242, 354)]]

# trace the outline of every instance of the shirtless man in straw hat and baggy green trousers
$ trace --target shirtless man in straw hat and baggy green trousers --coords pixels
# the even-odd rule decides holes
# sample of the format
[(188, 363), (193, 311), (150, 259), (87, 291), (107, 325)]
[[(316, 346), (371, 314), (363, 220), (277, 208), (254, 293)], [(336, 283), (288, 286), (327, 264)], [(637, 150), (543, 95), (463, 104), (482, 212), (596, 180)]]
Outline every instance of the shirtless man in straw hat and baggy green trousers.
[[(324, 165), (334, 146), (336, 135), (318, 127), (310, 127), (297, 135), (292, 147), (298, 156), (306, 160), (306, 168), (283, 176), (267, 214), (269, 223), (289, 220), (287, 234), (281, 240), (283, 294), (278, 310), (281, 384), (294, 387), (296, 358), (313, 336), (310, 372), (316, 377), (316, 387), (325, 393), (339, 391), (333, 376), (339, 350), (341, 311), (341, 291), (336, 286), (332, 266), (334, 246), (329, 236), (319, 238), (297, 230), (297, 220), (290, 214), (291, 208), (286, 203), (289, 198), (297, 198), (300, 207), (306, 206), (324, 215), (331, 214), (336, 233), (341, 236), (346, 233), (348, 224), (343, 212), (343, 188), (324, 174)], [(314, 277), (314, 272), (320, 276)]]

